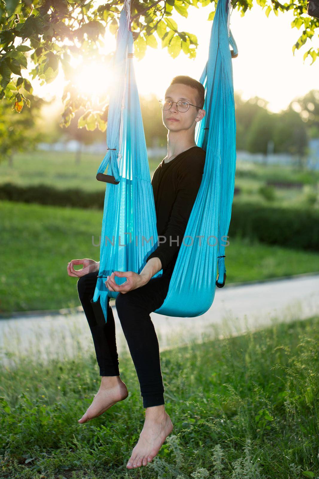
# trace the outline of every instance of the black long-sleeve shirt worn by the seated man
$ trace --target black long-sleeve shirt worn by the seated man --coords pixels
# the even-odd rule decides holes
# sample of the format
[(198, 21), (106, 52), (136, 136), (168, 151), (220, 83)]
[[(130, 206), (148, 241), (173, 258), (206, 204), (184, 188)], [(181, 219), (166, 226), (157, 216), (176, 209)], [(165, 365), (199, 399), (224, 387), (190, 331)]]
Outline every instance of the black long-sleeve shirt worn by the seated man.
[[(159, 245), (147, 259), (159, 258), (163, 273), (173, 271), (204, 172), (206, 152), (195, 146), (158, 165), (152, 177)], [(176, 241), (178, 239), (178, 241)]]

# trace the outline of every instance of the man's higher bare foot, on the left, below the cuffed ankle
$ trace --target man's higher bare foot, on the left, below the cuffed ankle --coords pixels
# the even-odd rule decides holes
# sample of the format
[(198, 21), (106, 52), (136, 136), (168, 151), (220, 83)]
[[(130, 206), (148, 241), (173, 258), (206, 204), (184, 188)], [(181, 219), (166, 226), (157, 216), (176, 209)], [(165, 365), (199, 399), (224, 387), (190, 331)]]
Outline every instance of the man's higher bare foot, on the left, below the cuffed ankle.
[(78, 420), (80, 424), (96, 418), (110, 409), (116, 402), (126, 399), (129, 392), (120, 376), (102, 376), (99, 391), (94, 396), (88, 410)]

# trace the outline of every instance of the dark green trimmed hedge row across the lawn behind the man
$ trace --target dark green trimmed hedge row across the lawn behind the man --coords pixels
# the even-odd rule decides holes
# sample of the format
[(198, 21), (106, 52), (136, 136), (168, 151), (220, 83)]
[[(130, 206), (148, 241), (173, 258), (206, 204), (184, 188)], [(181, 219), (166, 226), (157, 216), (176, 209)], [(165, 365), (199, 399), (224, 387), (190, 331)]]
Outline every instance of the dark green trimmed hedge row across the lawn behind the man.
[[(22, 187), (6, 183), (0, 186), (0, 200), (103, 209), (104, 191), (90, 193), (79, 189), (58, 190), (44, 185)], [(319, 212), (311, 208), (288, 209), (234, 201), (229, 236), (319, 251)]]

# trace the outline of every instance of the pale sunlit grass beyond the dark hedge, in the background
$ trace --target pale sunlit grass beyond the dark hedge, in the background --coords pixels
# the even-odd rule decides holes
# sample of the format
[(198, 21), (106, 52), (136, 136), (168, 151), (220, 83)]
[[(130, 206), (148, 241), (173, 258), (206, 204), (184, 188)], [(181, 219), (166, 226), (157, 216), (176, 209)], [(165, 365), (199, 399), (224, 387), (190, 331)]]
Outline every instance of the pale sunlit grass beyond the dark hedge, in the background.
[[(70, 152), (34, 151), (20, 153), (14, 157), (13, 166), (7, 161), (0, 163), (0, 184), (11, 182), (20, 186), (45, 184), (58, 189), (80, 188), (83, 191), (105, 191), (105, 183), (95, 178), (103, 159), (100, 154), (84, 153), (79, 164), (75, 154)], [(162, 158), (150, 159), (152, 177)], [(272, 204), (285, 207), (304, 207), (307, 205), (307, 188), (317, 194), (319, 207), (319, 172), (299, 170), (285, 165), (263, 165), (238, 161), (236, 166), (235, 186), (241, 189), (234, 201), (253, 201), (265, 204), (264, 197), (258, 189), (267, 180), (302, 182), (304, 189), (275, 189)], [(306, 187), (306, 189), (305, 189)]]

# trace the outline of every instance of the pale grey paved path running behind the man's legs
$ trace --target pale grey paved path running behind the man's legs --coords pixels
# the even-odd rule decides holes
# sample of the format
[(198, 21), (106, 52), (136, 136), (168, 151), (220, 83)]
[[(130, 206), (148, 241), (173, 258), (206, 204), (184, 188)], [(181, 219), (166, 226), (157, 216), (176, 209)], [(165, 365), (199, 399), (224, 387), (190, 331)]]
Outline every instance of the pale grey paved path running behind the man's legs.
[[(113, 307), (119, 352), (128, 351)], [(173, 318), (151, 313), (160, 350), (259, 329), (277, 319), (291, 321), (319, 314), (319, 274), (272, 280), (253, 285), (216, 288), (214, 302), (197, 318)], [(8, 351), (10, 352), (8, 354)], [(94, 351), (84, 313), (0, 320), (0, 361), (17, 361), (19, 354), (50, 358)]]

